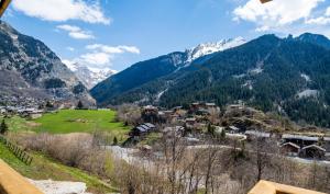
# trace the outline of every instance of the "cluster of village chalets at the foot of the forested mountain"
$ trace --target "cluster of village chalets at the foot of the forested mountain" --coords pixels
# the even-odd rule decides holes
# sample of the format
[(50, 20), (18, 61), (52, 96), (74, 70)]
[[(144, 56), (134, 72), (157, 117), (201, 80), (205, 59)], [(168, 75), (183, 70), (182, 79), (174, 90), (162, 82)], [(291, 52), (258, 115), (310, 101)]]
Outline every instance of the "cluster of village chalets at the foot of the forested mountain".
[[(293, 127), (287, 121), (273, 119), (243, 103), (228, 105), (224, 110), (220, 110), (215, 103), (200, 102), (191, 103), (187, 109), (143, 106), (142, 123), (131, 130), (130, 140), (138, 144), (153, 133), (180, 136), (185, 138), (187, 146), (201, 146), (206, 142), (249, 145), (255, 139), (270, 140), (287, 157), (330, 160), (330, 136), (327, 129)], [(143, 146), (143, 150), (148, 149), (152, 147)]]

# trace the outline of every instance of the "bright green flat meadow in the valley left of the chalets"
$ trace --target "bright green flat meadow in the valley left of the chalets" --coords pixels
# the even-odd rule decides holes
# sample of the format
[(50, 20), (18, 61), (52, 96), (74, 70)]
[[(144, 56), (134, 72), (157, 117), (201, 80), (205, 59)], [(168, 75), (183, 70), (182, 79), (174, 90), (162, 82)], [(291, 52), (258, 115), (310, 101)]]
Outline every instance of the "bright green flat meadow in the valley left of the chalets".
[(131, 127), (116, 122), (114, 111), (63, 110), (47, 113), (41, 118), (26, 121), (19, 116), (7, 118), (11, 132), (32, 130), (51, 134), (92, 133), (106, 130), (118, 138), (124, 138)]

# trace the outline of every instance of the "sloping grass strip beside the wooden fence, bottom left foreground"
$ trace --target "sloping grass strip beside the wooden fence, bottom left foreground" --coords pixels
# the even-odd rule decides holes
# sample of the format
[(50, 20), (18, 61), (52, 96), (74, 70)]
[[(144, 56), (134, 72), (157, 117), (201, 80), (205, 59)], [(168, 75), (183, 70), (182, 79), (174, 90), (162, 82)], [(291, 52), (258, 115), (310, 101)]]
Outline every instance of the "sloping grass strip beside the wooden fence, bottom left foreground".
[(79, 169), (63, 166), (38, 153), (33, 153), (32, 156), (32, 164), (26, 166), (21, 162), (14, 155), (12, 155), (3, 146), (3, 144), (0, 142), (0, 158), (26, 178), (33, 180), (51, 179), (54, 181), (85, 182), (88, 186), (88, 191), (92, 193), (117, 192), (117, 190), (111, 185), (99, 180), (97, 176), (87, 174)]

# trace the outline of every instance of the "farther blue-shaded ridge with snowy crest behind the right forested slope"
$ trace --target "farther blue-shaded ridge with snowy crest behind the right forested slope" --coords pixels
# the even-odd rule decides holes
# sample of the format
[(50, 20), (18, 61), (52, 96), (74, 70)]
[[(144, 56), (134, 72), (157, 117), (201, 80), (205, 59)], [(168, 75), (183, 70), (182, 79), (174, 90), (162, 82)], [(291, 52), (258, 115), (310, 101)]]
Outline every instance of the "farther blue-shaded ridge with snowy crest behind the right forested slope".
[(107, 104), (112, 98), (138, 88), (164, 76), (168, 76), (190, 66), (196, 60), (206, 60), (217, 52), (245, 43), (242, 37), (223, 39), (218, 43), (200, 44), (185, 52), (175, 52), (150, 60), (132, 65), (128, 69), (111, 76), (91, 89), (91, 95), (99, 104)]

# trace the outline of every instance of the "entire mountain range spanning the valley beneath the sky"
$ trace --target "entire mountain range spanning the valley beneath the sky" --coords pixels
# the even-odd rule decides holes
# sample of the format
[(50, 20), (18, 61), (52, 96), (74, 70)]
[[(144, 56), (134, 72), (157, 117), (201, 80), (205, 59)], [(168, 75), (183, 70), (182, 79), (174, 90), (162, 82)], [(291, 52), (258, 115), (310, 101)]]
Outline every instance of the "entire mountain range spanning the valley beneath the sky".
[(97, 100), (100, 106), (164, 107), (195, 101), (220, 106), (244, 102), (296, 122), (330, 127), (330, 41), (323, 35), (206, 43), (140, 61), (116, 75), (78, 64), (69, 67), (41, 41), (0, 22), (0, 100), (20, 96), (89, 104)]

